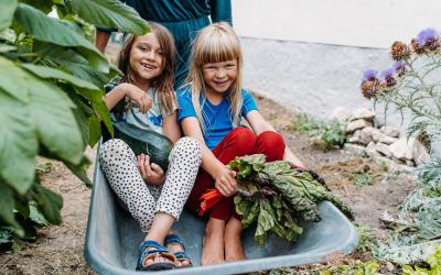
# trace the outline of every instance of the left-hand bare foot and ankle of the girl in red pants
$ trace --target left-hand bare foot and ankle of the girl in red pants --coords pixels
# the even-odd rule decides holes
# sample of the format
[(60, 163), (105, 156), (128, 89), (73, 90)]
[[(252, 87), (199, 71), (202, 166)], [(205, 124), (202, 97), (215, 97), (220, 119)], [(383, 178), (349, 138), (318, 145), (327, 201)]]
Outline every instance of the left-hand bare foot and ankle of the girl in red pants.
[(202, 265), (219, 264), (224, 262), (224, 232), (225, 221), (209, 218), (205, 227)]

